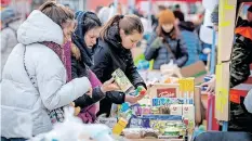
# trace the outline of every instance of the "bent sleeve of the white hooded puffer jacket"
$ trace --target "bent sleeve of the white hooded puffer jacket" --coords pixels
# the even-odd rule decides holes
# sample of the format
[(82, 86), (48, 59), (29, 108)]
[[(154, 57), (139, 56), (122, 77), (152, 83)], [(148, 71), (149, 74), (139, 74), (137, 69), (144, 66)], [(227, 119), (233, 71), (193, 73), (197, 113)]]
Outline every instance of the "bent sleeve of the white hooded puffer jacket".
[(91, 88), (87, 77), (75, 78), (66, 84), (66, 70), (51, 50), (44, 53), (43, 60), (37, 60), (36, 74), (39, 93), (48, 110), (67, 105)]

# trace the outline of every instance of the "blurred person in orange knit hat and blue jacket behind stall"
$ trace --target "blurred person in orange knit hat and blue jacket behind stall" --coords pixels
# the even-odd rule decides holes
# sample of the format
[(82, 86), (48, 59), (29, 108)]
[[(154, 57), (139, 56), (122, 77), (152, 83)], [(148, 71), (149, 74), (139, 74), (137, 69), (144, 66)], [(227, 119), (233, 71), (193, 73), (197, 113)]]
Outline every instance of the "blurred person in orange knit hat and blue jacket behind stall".
[(186, 64), (188, 52), (184, 39), (175, 28), (175, 16), (172, 11), (164, 10), (159, 14), (157, 34), (154, 34), (145, 50), (145, 59), (154, 60), (154, 69), (160, 69), (171, 61), (178, 67)]

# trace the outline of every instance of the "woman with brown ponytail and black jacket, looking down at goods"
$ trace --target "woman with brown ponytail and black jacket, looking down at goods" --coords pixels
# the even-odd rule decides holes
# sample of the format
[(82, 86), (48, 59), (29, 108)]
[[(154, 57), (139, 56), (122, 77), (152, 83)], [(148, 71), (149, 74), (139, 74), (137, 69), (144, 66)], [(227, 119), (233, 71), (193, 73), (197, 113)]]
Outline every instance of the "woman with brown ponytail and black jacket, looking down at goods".
[[(136, 15), (115, 15), (106, 23), (101, 31), (97, 50), (94, 54), (94, 65), (91, 67), (102, 82), (109, 80), (111, 74), (120, 68), (135, 88), (147, 89), (133, 63), (131, 53), (131, 49), (142, 40), (143, 33), (143, 24)], [(106, 114), (108, 117), (112, 103), (136, 103), (143, 98), (144, 95), (125, 95), (123, 92), (111, 93), (100, 102), (97, 115)]]

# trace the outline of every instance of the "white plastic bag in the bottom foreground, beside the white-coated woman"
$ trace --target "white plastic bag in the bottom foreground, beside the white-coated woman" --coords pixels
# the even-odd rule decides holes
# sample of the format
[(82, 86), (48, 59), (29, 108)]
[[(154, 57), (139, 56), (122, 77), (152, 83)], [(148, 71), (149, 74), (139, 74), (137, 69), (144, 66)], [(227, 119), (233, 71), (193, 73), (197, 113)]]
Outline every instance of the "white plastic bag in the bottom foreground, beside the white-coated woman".
[(65, 120), (54, 125), (53, 130), (39, 134), (30, 141), (114, 141), (111, 130), (100, 124), (84, 125), (74, 116), (74, 108), (64, 108)]

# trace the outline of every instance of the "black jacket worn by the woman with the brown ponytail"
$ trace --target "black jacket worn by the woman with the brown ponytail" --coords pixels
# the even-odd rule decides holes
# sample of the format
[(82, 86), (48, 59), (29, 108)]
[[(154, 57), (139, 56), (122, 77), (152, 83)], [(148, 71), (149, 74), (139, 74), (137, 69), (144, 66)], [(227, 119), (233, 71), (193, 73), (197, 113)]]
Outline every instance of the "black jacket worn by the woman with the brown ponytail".
[[(108, 29), (107, 38), (98, 40), (98, 46), (94, 54), (94, 66), (91, 67), (92, 70), (102, 82), (105, 82), (111, 78), (111, 74), (117, 68), (120, 68), (134, 87), (144, 86), (146, 88), (144, 80), (134, 66), (131, 51), (124, 49), (120, 42), (118, 26), (114, 25)], [(121, 104), (125, 98), (123, 92), (114, 92), (107, 95), (100, 103), (98, 115), (106, 113), (108, 116), (111, 104)]]

